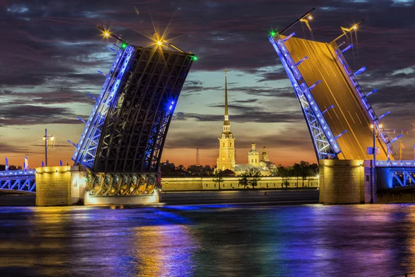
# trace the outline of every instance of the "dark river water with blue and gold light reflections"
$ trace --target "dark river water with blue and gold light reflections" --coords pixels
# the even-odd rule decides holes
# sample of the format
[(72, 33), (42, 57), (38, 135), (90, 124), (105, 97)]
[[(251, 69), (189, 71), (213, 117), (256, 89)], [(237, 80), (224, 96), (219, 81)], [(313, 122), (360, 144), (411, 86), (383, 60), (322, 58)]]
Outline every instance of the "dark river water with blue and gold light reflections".
[(393, 276), (415, 205), (0, 207), (0, 276)]

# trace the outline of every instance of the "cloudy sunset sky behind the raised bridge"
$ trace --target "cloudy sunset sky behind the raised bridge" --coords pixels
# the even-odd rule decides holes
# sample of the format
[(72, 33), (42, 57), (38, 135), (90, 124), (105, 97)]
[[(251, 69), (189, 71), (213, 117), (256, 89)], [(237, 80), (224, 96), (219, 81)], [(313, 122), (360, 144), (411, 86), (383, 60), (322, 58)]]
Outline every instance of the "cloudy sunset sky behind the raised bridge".
[[(48, 163), (70, 164), (73, 146), (93, 107), (87, 93), (100, 92), (115, 53), (114, 41), (96, 26), (145, 46), (156, 31), (185, 51), (194, 63), (163, 151), (162, 160), (216, 163), (222, 132), (224, 73), (228, 71), (231, 130), (237, 163), (247, 162), (250, 143), (265, 144), (270, 160), (291, 165), (315, 162), (315, 152), (297, 98), (273, 46), (271, 28), (281, 30), (315, 7), (315, 40), (330, 42), (365, 19), (348, 62), (389, 132), (404, 132), (403, 159), (414, 159), (415, 4), (411, 0), (230, 0), (230, 1), (8, 1), (0, 0), (0, 163), (30, 168), (44, 160), (44, 129), (56, 138)], [(153, 23), (154, 22), (154, 25)], [(304, 28), (304, 32), (303, 32)], [(292, 28), (311, 38), (306, 26)], [(144, 35), (142, 35), (144, 34)], [(353, 37), (353, 39), (355, 39)], [(395, 135), (395, 136), (396, 136)], [(59, 146), (58, 146), (59, 145)], [(368, 145), (369, 146), (369, 145)], [(395, 143), (399, 148), (399, 143)]]

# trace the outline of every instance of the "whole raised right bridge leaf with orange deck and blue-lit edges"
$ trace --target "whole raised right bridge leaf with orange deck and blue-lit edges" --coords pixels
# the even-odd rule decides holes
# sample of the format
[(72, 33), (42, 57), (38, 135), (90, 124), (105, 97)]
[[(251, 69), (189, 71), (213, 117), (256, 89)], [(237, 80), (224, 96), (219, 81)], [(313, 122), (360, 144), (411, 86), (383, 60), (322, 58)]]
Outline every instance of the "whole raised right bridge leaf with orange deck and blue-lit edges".
[(292, 35), (269, 37), (293, 84), (315, 146), (317, 159), (371, 159), (371, 124), (376, 125), (378, 158), (387, 159), (394, 149), (379, 127), (366, 94), (351, 72), (342, 51), (331, 44)]

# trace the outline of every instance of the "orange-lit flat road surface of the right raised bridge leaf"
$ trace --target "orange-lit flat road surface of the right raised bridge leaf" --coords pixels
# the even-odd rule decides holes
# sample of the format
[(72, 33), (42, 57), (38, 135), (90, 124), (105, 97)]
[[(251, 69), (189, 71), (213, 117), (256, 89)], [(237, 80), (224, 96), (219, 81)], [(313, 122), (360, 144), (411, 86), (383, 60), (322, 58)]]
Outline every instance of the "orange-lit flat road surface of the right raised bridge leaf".
[[(342, 150), (338, 158), (371, 159), (371, 155), (366, 154), (366, 148), (373, 146), (373, 133), (370, 129), (372, 121), (362, 107), (360, 98), (356, 96), (344, 69), (335, 60), (333, 48), (329, 44), (295, 37), (288, 39), (285, 44), (295, 62), (308, 57), (298, 66), (308, 87), (321, 80), (312, 93), (322, 111), (334, 105), (333, 109), (324, 114), (333, 134), (338, 135), (347, 130), (338, 139)], [(386, 159), (385, 144), (377, 139), (376, 146), (380, 146), (378, 158)]]

